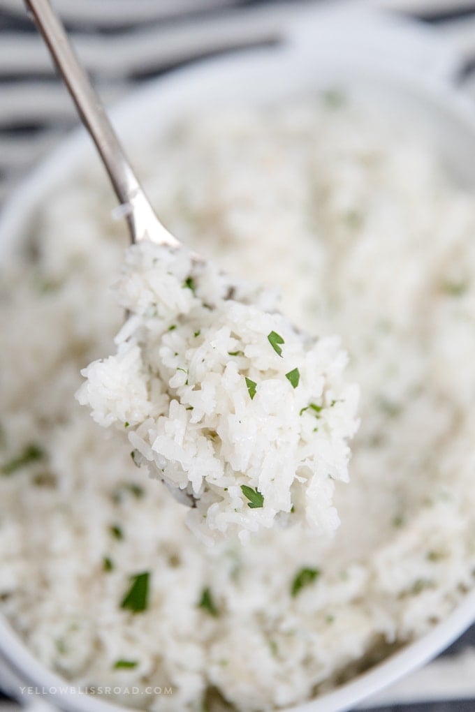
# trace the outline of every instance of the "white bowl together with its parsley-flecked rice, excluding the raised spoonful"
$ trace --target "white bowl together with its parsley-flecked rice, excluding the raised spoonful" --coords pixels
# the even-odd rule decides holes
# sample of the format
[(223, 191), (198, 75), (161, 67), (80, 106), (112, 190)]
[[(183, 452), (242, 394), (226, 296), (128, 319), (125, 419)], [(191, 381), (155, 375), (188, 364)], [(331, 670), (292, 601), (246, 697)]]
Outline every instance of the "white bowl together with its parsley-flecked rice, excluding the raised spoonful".
[(471, 624), (475, 115), (455, 67), (411, 23), (310, 12), (278, 46), (179, 70), (113, 113), (173, 234), (281, 290), (296, 325), (341, 336), (361, 424), (333, 538), (291, 527), (204, 546), (75, 401), (123, 321), (109, 286), (127, 246), (83, 132), (6, 206), (12, 695), (84, 712), (337, 712)]

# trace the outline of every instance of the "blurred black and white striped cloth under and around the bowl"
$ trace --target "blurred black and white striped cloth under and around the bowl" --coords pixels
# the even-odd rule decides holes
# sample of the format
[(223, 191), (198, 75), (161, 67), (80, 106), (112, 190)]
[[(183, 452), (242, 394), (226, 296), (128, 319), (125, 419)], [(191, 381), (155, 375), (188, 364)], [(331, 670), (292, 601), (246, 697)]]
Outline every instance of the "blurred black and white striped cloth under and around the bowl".
[[(111, 105), (140, 83), (184, 63), (279, 42), (299, 11), (336, 2), (55, 0), (54, 4), (105, 104)], [(384, 8), (432, 26), (458, 53), (458, 80), (475, 103), (475, 0), (349, 0), (346, 4)], [(52, 71), (23, 3), (0, 0), (0, 209), (28, 171), (76, 125), (71, 100)], [(0, 695), (0, 712), (7, 708), (13, 710), (14, 704)], [(475, 627), (439, 659), (393, 686), (371, 708), (474, 712)]]

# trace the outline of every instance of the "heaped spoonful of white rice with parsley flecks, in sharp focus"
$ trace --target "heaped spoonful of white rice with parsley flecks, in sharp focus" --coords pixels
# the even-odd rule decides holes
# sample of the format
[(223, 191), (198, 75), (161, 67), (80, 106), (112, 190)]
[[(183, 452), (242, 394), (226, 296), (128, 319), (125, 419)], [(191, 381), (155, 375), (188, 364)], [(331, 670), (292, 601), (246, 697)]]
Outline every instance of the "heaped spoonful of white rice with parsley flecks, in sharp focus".
[(244, 543), (276, 521), (333, 533), (357, 428), (338, 339), (297, 332), (273, 295), (152, 242), (127, 250), (118, 300), (118, 352), (82, 371), (78, 400), (186, 493), (198, 537)]

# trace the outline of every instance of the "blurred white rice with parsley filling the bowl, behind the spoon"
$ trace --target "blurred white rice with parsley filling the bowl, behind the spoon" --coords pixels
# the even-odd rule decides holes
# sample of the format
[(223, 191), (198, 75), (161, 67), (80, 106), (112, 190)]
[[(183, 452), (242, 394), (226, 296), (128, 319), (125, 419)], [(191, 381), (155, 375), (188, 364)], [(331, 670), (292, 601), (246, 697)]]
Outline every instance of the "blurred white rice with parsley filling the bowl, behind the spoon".
[[(1, 281), (1, 611), (68, 679), (172, 686), (127, 705), (291, 705), (420, 636), (474, 583), (473, 198), (409, 128), (351, 105), (194, 117), (137, 163), (174, 234), (343, 337), (362, 424), (335, 483), (341, 525), (333, 541), (297, 526), (205, 548), (123, 434), (74, 401), (123, 320), (107, 285), (126, 239), (85, 169), (38, 211), (34, 266)], [(121, 603), (145, 572), (133, 613)]]

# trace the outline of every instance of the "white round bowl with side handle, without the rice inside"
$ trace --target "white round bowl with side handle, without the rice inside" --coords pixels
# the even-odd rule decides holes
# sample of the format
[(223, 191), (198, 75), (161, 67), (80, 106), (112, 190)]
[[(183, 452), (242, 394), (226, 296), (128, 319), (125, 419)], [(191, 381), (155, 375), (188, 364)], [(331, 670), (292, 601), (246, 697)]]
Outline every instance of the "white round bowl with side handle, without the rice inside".
[[(404, 121), (409, 118), (414, 131), (424, 132), (434, 142), (447, 169), (475, 187), (475, 111), (451, 86), (456, 66), (457, 58), (437, 36), (412, 23), (345, 9), (311, 11), (296, 17), (280, 45), (204, 61), (155, 80), (118, 106), (113, 117), (133, 157), (137, 135), (141, 142), (156, 136), (175, 117), (189, 115), (196, 107), (279, 103), (325, 86), (344, 85), (355, 94), (376, 95), (400, 112)], [(35, 207), (54, 199), (55, 187), (88, 160), (97, 159), (88, 137), (78, 131), (31, 174), (0, 219), (0, 256), (21, 244)], [(475, 591), (423, 638), (339, 689), (292, 710), (353, 708), (442, 651), (469, 627), (474, 611)], [(1, 619), (0, 684), (24, 703), (33, 700), (28, 693), (28, 686), (33, 686), (68, 712), (118, 709), (104, 698), (68, 688), (33, 658)]]

